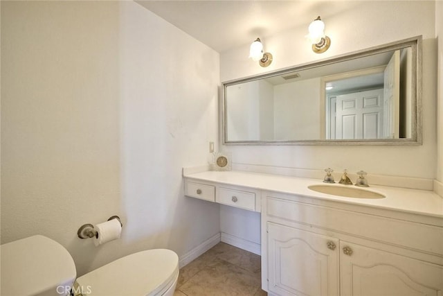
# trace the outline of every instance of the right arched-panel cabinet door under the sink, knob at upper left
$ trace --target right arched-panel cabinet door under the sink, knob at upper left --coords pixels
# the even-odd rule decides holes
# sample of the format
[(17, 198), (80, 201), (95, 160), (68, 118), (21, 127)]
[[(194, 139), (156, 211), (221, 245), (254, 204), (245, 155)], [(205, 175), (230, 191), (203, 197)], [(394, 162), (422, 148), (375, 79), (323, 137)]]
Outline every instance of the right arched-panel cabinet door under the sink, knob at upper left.
[(340, 252), (343, 296), (442, 295), (443, 266), (345, 241)]

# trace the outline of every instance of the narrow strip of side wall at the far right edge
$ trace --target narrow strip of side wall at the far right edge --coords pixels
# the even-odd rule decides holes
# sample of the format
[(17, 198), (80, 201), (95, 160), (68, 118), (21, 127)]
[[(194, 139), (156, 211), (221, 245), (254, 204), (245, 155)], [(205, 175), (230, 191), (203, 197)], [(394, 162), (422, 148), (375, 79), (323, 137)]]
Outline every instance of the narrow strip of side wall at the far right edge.
[(435, 36), (438, 40), (436, 179), (443, 183), (443, 1), (435, 2)]

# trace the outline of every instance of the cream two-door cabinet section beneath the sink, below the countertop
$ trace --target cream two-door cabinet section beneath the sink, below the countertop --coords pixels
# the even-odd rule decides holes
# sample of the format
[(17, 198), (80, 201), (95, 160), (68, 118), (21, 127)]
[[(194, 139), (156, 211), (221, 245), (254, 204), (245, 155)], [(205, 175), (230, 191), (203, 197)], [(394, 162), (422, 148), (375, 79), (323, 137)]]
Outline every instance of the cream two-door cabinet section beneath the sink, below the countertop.
[(443, 296), (443, 227), (309, 202), (264, 194), (262, 288), (270, 295)]

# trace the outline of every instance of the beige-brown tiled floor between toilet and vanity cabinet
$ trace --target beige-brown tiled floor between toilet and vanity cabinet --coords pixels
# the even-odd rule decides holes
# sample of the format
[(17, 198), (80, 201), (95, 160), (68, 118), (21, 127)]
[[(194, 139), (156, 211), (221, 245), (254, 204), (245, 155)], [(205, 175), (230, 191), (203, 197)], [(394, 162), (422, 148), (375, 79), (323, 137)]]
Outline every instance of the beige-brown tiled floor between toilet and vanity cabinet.
[(262, 296), (260, 256), (218, 243), (181, 268), (174, 296)]

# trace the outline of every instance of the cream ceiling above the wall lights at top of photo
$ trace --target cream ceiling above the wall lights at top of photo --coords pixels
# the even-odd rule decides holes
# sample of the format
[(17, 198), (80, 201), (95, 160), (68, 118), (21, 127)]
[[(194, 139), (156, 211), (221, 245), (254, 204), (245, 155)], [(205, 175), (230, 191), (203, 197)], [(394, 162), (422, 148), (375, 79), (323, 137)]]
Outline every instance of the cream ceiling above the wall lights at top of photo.
[[(349, 6), (347, 1), (152, 1), (141, 6), (219, 53), (290, 28), (306, 27)], [(351, 2), (352, 3), (352, 2)]]

